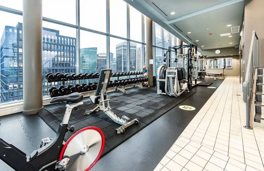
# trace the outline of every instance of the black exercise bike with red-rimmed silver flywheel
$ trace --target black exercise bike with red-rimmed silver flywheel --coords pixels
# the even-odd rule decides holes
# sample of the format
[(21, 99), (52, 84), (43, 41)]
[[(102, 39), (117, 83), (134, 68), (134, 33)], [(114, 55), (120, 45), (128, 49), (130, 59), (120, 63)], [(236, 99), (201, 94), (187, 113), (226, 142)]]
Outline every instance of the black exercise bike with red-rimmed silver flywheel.
[(50, 103), (66, 102), (67, 107), (56, 137), (42, 139), (44, 146), (29, 155), (0, 138), (0, 159), (15, 171), (89, 171), (103, 153), (103, 132), (86, 127), (63, 144), (66, 132), (74, 132), (73, 126), (68, 127), (72, 109), (83, 104), (82, 100), (80, 93), (53, 98)]

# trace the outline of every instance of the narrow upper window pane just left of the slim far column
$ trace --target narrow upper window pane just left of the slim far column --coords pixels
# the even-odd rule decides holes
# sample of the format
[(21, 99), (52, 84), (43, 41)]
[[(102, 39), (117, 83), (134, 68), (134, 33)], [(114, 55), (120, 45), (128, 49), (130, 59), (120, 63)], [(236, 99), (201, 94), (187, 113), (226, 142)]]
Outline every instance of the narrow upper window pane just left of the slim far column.
[(142, 42), (142, 14), (130, 6), (130, 39)]

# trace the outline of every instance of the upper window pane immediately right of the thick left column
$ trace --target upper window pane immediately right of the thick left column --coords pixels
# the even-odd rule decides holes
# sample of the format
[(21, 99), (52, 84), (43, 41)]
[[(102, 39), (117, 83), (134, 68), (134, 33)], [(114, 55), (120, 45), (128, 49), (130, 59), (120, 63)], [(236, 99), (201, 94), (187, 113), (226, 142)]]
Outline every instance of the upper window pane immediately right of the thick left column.
[(43, 17), (76, 24), (76, 0), (42, 0), (42, 14)]

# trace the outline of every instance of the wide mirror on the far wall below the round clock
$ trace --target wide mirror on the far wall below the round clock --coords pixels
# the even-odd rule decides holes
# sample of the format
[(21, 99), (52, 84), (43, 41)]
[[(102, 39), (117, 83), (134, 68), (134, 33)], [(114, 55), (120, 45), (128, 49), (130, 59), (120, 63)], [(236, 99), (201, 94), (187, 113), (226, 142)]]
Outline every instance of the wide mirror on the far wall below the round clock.
[(226, 69), (233, 68), (233, 58), (216, 58), (209, 59), (209, 69)]

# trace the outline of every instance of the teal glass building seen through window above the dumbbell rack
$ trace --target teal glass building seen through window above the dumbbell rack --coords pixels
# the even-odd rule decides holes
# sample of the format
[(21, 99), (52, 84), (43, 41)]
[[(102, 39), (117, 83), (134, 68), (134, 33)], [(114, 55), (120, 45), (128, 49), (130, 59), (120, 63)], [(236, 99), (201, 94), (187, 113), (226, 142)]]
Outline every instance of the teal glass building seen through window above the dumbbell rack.
[(97, 48), (80, 49), (80, 72), (96, 72)]

